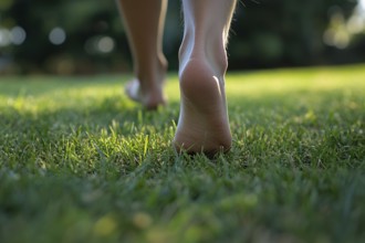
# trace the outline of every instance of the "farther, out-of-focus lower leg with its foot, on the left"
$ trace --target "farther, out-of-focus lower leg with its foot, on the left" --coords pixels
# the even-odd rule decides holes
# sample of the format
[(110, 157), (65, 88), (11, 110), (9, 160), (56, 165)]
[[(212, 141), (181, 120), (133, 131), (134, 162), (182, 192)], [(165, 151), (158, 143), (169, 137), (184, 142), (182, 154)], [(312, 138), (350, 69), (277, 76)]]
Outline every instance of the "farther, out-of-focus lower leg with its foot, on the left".
[(163, 31), (167, 0), (117, 0), (127, 31), (136, 80), (126, 86), (129, 98), (146, 108), (164, 104), (167, 61)]

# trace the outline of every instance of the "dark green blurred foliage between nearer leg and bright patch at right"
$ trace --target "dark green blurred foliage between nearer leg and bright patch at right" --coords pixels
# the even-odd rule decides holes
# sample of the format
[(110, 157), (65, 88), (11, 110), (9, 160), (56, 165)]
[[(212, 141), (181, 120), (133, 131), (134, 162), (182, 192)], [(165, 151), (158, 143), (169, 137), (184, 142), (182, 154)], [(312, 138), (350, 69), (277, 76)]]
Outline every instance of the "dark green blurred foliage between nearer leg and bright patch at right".
[[(327, 63), (323, 33), (332, 14), (347, 19), (357, 1), (260, 0), (238, 8), (230, 45), (234, 67)], [(242, 62), (243, 61), (243, 62)], [(348, 60), (350, 61), (350, 60)]]

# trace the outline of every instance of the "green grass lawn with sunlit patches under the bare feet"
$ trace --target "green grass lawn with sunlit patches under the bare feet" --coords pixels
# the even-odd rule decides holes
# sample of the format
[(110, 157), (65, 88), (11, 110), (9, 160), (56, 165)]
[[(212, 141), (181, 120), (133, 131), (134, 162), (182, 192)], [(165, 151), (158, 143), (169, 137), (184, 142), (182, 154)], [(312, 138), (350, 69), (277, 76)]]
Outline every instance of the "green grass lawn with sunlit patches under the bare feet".
[(365, 242), (365, 65), (230, 73), (212, 160), (128, 78), (0, 77), (1, 243)]

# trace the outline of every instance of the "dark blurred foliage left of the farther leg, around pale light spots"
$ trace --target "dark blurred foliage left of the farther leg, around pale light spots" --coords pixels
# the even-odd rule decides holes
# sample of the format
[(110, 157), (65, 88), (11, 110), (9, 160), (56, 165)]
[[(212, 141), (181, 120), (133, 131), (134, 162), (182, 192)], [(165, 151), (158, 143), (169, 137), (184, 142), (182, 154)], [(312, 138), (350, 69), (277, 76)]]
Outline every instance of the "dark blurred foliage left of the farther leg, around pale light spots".
[[(12, 55), (20, 72), (90, 73), (123, 62), (121, 55), (126, 38), (114, 1), (12, 0), (2, 14), (2, 25), (20, 25), (25, 30), (23, 44), (13, 45), (2, 53)], [(49, 41), (53, 28), (66, 33), (66, 41), (54, 45)], [(115, 52), (87, 53), (86, 42), (97, 35), (118, 39)], [(121, 51), (122, 50), (122, 51)]]

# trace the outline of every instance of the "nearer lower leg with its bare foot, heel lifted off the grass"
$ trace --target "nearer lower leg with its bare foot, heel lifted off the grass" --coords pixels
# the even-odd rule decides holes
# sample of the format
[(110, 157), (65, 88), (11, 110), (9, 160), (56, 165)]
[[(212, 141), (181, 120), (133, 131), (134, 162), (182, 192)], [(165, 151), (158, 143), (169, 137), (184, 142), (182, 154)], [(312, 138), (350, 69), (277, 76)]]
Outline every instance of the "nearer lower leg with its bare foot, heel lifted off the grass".
[(179, 52), (180, 116), (177, 150), (227, 151), (231, 134), (227, 114), (226, 43), (236, 0), (185, 0)]

